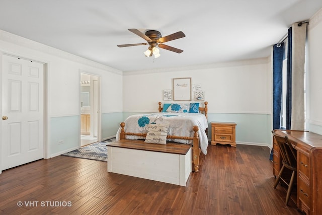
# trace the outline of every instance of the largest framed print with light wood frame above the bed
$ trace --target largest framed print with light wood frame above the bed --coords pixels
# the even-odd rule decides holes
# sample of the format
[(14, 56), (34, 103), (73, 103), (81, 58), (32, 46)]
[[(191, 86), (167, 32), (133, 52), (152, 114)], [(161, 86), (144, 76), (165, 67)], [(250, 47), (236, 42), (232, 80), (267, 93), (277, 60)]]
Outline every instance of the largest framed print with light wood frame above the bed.
[(191, 78), (173, 79), (173, 100), (191, 101)]

